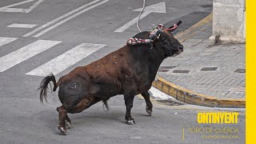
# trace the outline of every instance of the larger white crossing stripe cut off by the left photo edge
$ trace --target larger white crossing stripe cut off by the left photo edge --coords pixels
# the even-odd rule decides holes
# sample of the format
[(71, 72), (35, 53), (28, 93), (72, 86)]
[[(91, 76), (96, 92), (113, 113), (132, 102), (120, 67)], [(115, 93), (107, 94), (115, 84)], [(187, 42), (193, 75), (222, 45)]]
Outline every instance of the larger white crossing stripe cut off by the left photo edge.
[(17, 65), (25, 61), (28, 58), (33, 57), (36, 54), (41, 53), (44, 50), (50, 49), (50, 47), (57, 45), (58, 41), (46, 41), (38, 40), (36, 42), (30, 43), (27, 46), (22, 47), (10, 54), (6, 54), (0, 58), (0, 72), (8, 70), (10, 67)]

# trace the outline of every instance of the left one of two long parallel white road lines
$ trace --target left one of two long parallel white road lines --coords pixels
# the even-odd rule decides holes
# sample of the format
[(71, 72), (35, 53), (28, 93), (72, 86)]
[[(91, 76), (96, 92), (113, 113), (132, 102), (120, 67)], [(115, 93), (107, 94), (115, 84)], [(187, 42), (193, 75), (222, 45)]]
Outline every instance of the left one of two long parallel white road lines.
[(70, 16), (71, 14), (76, 13), (78, 10), (82, 10), (86, 6), (90, 6), (90, 5), (94, 4), (95, 2), (99, 2), (99, 1), (101, 1), (101, 0), (94, 0), (93, 2), (87, 3), (86, 5), (80, 6), (77, 9), (72, 10), (69, 13), (62, 15), (61, 17), (55, 18), (54, 20), (47, 22), (45, 25), (42, 25), (42, 26), (38, 27), (37, 29), (30, 31), (29, 33), (23, 35), (23, 37), (29, 37), (30, 35), (38, 32), (39, 30), (44, 29), (46, 26), (50, 26), (50, 25), (54, 24), (55, 22), (58, 22), (62, 18), (66, 18), (66, 17)]

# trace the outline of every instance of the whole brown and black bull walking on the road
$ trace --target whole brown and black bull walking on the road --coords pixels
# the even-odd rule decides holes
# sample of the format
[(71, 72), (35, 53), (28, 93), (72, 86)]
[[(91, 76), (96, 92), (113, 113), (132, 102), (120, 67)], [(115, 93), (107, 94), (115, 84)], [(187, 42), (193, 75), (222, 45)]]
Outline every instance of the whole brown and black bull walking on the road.
[[(150, 32), (142, 32), (134, 38), (148, 38)], [(151, 47), (153, 46), (153, 47)], [(66, 134), (71, 122), (67, 113), (79, 113), (102, 101), (123, 94), (126, 104), (126, 122), (134, 124), (130, 115), (134, 96), (142, 94), (146, 100), (146, 112), (152, 113), (152, 103), (148, 90), (154, 81), (161, 62), (174, 54), (179, 54), (183, 46), (168, 31), (164, 30), (152, 45), (126, 45), (96, 62), (79, 66), (56, 82), (50, 74), (42, 79), (39, 87), (40, 100), (46, 99), (47, 85), (52, 81), (54, 91), (59, 86), (58, 98), (62, 106), (58, 107), (58, 129)]]

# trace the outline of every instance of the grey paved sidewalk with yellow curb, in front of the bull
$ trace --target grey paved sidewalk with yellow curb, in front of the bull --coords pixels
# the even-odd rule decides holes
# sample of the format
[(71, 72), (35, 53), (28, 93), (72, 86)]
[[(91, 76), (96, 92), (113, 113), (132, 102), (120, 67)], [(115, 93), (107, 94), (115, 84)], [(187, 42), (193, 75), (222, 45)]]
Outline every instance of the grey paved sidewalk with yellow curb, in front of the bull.
[(153, 86), (191, 104), (245, 107), (245, 45), (209, 46), (211, 18), (175, 36), (184, 51), (162, 62)]

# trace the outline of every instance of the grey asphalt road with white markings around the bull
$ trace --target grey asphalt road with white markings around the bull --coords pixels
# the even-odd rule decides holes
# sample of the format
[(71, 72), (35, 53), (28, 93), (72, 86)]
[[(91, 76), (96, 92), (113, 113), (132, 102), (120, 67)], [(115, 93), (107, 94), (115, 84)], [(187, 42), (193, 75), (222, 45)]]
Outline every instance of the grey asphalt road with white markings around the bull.
[[(191, 134), (188, 130), (191, 126), (219, 126), (197, 124), (198, 110), (208, 109), (186, 105), (162, 106), (154, 103), (154, 114), (149, 117), (146, 115), (145, 102), (136, 98), (132, 116), (137, 123), (128, 126), (124, 121), (126, 107), (122, 96), (110, 99), (110, 110), (107, 112), (104, 112), (102, 103), (99, 102), (81, 114), (70, 114), (73, 128), (66, 136), (60, 135), (57, 129), (56, 107), (60, 106), (57, 93), (50, 93), (49, 103), (44, 106), (39, 102), (37, 88), (42, 80), (39, 72), (47, 73), (41, 68), (53, 70), (58, 78), (76, 66), (84, 66), (111, 51), (118, 50), (125, 45), (128, 38), (137, 34), (138, 30), (134, 24), (126, 30), (122, 29), (122, 32), (114, 31), (127, 26), (127, 22), (138, 16), (139, 11), (134, 10), (142, 8), (142, 1), (31, 0), (26, 2), (22, 0), (0, 2), (0, 143), (243, 143), (245, 141), (245, 114), (242, 109), (238, 110), (241, 111), (238, 124), (232, 125), (238, 127), (240, 138), (203, 139), (202, 134)], [(140, 21), (140, 28), (150, 30), (152, 24), (158, 23), (171, 26), (173, 22), (182, 19), (180, 30), (186, 30), (211, 12), (211, 2), (211, 0), (158, 2), (146, 0), (146, 6), (151, 8), (146, 9), (147, 15)], [(17, 5), (13, 5), (15, 3)], [(22, 25), (26, 28), (11, 26), (14, 23), (26, 24)], [(33, 31), (35, 32), (32, 34)], [(81, 45), (82, 43), (84, 44)], [(82, 50), (94, 46), (95, 50), (88, 50), (87, 55), (81, 55), (84, 51), (74, 49), (76, 46), (78, 48), (83, 46)], [(70, 55), (69, 50), (73, 50), (74, 55)], [(50, 65), (49, 62), (56, 64)], [(184, 134), (182, 134), (183, 128)]]

